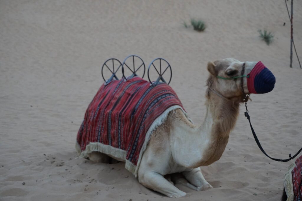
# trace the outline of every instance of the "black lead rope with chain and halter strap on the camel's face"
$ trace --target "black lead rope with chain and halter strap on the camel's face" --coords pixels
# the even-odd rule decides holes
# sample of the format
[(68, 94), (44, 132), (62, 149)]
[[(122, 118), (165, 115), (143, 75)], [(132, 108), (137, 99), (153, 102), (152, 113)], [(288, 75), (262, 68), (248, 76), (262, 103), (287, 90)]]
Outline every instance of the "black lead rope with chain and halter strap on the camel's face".
[[(245, 63), (243, 63), (243, 65), (242, 65), (241, 76), (243, 76), (243, 74), (244, 74), (244, 68), (245, 68)], [(252, 127), (252, 124), (251, 124), (251, 119), (250, 119), (250, 116), (249, 116), (249, 110), (247, 109), (247, 101), (249, 100), (250, 94), (245, 94), (245, 92), (244, 92), (244, 89), (243, 89), (243, 77), (241, 77), (241, 90), (242, 90), (242, 93), (243, 93), (243, 102), (245, 102), (245, 106), (246, 106), (246, 111), (244, 112), (244, 115), (249, 120), (249, 125), (251, 126), (251, 130), (252, 130), (253, 136), (255, 138), (255, 141), (256, 141), (259, 149), (262, 151), (262, 153), (264, 153), (264, 155), (266, 155), (268, 158), (270, 158), (270, 159), (272, 159), (274, 161), (288, 162), (291, 159), (294, 159), (302, 151), (302, 147), (301, 147), (301, 149), (294, 156), (291, 156), (291, 154), (289, 154), (289, 158), (288, 159), (275, 159), (275, 158), (270, 157), (264, 151), (264, 149), (262, 148), (262, 146), (261, 146), (261, 144), (260, 144), (260, 142), (258, 140), (258, 137), (257, 137), (257, 135), (256, 135), (256, 133), (255, 133), (253, 127)]]

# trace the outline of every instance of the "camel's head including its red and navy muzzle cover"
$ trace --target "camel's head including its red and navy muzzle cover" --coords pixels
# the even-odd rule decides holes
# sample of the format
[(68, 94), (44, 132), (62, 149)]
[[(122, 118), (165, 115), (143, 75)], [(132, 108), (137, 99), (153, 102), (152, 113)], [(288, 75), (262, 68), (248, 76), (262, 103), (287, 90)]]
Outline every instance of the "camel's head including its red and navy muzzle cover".
[(226, 98), (245, 94), (268, 93), (275, 86), (275, 77), (261, 61), (241, 62), (233, 58), (208, 62), (210, 77), (207, 86)]

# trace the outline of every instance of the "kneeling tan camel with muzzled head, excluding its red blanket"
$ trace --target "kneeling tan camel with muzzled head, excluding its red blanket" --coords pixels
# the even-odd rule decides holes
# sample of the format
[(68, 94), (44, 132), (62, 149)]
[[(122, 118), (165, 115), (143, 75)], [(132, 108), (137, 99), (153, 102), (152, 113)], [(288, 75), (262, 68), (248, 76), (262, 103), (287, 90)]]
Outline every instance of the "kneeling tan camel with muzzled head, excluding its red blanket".
[[(267, 93), (274, 87), (275, 77), (262, 63), (261, 68), (259, 65), (259, 62), (241, 62), (233, 58), (208, 62), (210, 75), (206, 84), (203, 123), (194, 125), (181, 108), (169, 111), (165, 121), (152, 131), (137, 164), (138, 181), (145, 187), (176, 198), (186, 193), (166, 180), (164, 175), (181, 173), (188, 181), (187, 186), (197, 191), (212, 188), (204, 179), (200, 167), (220, 159), (235, 126), (244, 95)], [(257, 72), (253, 74), (255, 66), (257, 69), (254, 71)], [(263, 68), (267, 70), (265, 74), (270, 75), (260, 79), (261, 86), (266, 89), (248, 86), (250, 81), (247, 77), (256, 79), (259, 69)], [(114, 154), (93, 150), (82, 156), (96, 162), (108, 162), (109, 157), (125, 161)]]

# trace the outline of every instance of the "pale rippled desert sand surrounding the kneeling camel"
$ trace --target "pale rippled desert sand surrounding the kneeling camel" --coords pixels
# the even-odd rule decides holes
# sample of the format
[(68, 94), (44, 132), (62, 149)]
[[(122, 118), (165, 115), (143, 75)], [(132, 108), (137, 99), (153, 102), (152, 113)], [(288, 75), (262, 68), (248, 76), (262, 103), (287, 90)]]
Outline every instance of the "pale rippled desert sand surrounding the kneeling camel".
[[(183, 21), (201, 17), (196, 32)], [(286, 22), (285, 26), (283, 26)], [(294, 41), (302, 59), (302, 2), (294, 1)], [(302, 70), (289, 68), (284, 1), (0, 1), (0, 200), (176, 200), (139, 184), (124, 163), (76, 158), (76, 134), (103, 83), (101, 65), (130, 54), (173, 69), (170, 85), (192, 120), (205, 113), (206, 64), (262, 61), (275, 89), (251, 96), (249, 111), (264, 149), (287, 158), (301, 147)], [(267, 46), (258, 29), (275, 34)], [(244, 106), (221, 159), (202, 167), (214, 187), (177, 200), (278, 200), (291, 162), (257, 147)]]

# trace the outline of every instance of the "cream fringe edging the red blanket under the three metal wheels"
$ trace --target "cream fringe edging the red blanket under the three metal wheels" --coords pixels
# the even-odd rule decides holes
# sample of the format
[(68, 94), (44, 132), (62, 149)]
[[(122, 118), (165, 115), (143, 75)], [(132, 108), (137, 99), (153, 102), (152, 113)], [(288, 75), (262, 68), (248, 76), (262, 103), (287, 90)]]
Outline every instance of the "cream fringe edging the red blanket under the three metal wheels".
[(193, 123), (193, 121), (189, 118), (188, 114), (182, 109), (181, 106), (179, 105), (174, 105), (172, 107), (169, 107), (168, 109), (166, 109), (158, 118), (156, 118), (156, 120), (151, 124), (151, 126), (149, 127), (147, 133), (146, 133), (146, 138), (145, 141), (143, 143), (142, 149), (140, 150), (140, 155), (139, 155), (139, 159), (137, 161), (137, 165), (134, 165), (133, 163), (131, 163), (130, 161), (126, 160), (126, 156), (127, 156), (127, 152), (125, 150), (122, 149), (118, 149), (115, 147), (112, 147), (110, 145), (104, 145), (102, 143), (89, 143), (86, 146), (86, 149), (84, 151), (81, 151), (81, 147), (79, 146), (78, 143), (76, 143), (76, 151), (79, 154), (80, 158), (87, 158), (88, 154), (94, 151), (98, 151), (98, 152), (102, 152), (104, 154), (107, 155), (111, 155), (114, 156), (117, 159), (120, 159), (120, 161), (125, 161), (125, 168), (130, 171), (132, 174), (134, 174), (135, 177), (137, 177), (138, 174), (138, 169), (140, 167), (140, 162), (143, 156), (143, 153), (145, 152), (147, 145), (149, 143), (150, 137), (152, 132), (159, 127), (162, 123), (165, 122), (165, 120), (168, 117), (169, 112), (175, 110), (175, 109), (181, 109), (182, 112), (185, 114), (185, 116), (188, 118), (189, 121), (191, 121)]

